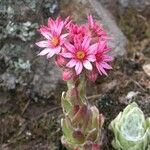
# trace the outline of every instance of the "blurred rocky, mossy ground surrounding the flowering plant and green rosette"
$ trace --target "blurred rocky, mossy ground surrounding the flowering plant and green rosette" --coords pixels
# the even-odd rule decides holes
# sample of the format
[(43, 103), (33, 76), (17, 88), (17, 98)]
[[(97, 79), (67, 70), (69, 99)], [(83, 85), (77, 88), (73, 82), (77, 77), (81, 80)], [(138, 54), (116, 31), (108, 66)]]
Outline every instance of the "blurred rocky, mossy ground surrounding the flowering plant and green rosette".
[(102, 149), (113, 150), (108, 124), (128, 103), (150, 116), (150, 0), (0, 0), (0, 150), (64, 149), (66, 85), (53, 60), (37, 56), (37, 29), (58, 15), (86, 23), (89, 13), (113, 38), (115, 58), (109, 76), (87, 87), (106, 119)]

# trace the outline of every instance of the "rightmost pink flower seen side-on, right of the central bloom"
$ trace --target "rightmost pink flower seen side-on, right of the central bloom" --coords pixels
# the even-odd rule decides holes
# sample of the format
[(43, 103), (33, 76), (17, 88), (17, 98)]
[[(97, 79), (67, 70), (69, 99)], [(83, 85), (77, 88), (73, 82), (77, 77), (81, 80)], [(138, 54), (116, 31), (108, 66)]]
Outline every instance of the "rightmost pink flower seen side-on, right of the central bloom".
[(108, 62), (112, 61), (113, 58), (107, 55), (110, 50), (111, 49), (107, 47), (106, 41), (100, 41), (96, 48), (95, 65), (99, 74), (101, 75), (105, 74), (107, 76), (106, 70), (112, 69)]

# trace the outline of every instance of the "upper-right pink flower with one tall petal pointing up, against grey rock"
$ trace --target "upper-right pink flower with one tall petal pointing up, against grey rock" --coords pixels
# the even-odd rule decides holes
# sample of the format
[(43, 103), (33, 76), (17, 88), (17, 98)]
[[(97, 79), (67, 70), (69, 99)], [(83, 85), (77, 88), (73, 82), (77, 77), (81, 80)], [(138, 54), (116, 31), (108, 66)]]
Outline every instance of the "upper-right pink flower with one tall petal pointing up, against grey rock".
[(91, 34), (91, 37), (98, 37), (101, 39), (108, 39), (107, 33), (104, 31), (102, 26), (93, 20), (91, 15), (88, 16), (88, 28)]

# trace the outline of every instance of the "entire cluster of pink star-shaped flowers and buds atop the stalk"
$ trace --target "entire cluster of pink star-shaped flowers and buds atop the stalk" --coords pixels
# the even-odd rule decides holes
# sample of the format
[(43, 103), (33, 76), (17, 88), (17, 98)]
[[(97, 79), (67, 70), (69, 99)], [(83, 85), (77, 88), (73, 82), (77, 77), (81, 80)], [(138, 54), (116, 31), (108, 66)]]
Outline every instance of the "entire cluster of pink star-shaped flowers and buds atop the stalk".
[(80, 74), (86, 74), (95, 81), (98, 74), (107, 75), (106, 70), (112, 69), (108, 64), (112, 57), (107, 53), (108, 36), (101, 25), (88, 16), (88, 23), (77, 25), (68, 17), (63, 21), (48, 19), (48, 25), (42, 26), (39, 32), (45, 40), (37, 42), (44, 48), (39, 55), (47, 58), (55, 57), (56, 64), (63, 70), (63, 80), (71, 80)]

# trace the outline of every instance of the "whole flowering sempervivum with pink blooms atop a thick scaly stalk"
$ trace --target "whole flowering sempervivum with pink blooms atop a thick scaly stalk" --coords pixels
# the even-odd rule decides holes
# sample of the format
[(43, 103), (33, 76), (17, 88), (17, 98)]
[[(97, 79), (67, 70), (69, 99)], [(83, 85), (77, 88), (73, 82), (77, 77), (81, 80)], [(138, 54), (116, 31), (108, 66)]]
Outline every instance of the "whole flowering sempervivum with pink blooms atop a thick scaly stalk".
[(86, 81), (94, 82), (98, 74), (107, 75), (112, 69), (106, 32), (91, 15), (84, 25), (74, 24), (69, 17), (65, 21), (49, 18), (39, 32), (44, 37), (36, 43), (43, 48), (39, 55), (55, 59), (68, 85), (61, 99), (62, 143), (70, 150), (99, 150), (104, 119), (87, 101)]

